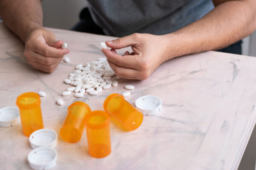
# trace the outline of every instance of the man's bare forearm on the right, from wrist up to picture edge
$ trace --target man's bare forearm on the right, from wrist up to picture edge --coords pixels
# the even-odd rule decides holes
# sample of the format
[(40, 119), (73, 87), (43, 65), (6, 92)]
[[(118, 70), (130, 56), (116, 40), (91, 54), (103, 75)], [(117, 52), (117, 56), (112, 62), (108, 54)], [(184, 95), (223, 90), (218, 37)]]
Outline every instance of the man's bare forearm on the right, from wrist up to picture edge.
[(166, 35), (172, 49), (165, 60), (224, 48), (252, 34), (255, 29), (255, 1), (221, 3), (200, 20)]

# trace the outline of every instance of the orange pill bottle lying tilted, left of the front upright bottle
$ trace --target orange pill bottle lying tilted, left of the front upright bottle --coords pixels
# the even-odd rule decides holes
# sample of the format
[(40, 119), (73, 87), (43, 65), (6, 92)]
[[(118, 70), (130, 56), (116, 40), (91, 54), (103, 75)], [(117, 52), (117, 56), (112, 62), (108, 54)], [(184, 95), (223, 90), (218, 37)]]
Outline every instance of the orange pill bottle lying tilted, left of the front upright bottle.
[(60, 130), (64, 141), (75, 143), (81, 139), (85, 128), (85, 115), (90, 111), (90, 107), (84, 102), (74, 102), (67, 108), (67, 116)]

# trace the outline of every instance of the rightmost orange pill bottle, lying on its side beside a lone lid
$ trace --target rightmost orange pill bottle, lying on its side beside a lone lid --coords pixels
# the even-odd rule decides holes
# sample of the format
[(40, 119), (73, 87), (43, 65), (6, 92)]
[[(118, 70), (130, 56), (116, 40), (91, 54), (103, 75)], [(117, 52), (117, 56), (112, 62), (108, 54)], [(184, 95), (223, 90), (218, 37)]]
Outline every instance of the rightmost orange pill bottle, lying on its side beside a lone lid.
[(103, 108), (128, 131), (137, 129), (143, 121), (143, 114), (120, 94), (109, 95), (104, 101)]

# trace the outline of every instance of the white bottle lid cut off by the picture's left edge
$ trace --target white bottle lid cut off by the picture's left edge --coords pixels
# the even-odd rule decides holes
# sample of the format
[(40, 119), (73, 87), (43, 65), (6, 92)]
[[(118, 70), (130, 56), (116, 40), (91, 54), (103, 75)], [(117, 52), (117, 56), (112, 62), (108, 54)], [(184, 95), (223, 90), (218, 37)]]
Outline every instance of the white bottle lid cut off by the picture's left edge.
[(20, 112), (17, 107), (0, 108), (0, 127), (15, 126), (20, 122)]

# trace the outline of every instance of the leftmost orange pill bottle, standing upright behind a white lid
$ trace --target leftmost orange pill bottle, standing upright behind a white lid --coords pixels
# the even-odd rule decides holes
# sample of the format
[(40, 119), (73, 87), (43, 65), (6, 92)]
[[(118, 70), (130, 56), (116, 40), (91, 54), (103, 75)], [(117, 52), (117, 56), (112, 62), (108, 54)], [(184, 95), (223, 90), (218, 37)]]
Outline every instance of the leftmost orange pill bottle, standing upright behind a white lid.
[(40, 96), (34, 92), (23, 93), (17, 97), (16, 105), (20, 110), (23, 134), (30, 136), (35, 130), (43, 129)]

